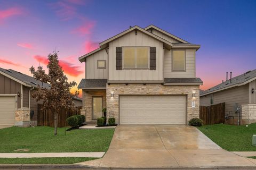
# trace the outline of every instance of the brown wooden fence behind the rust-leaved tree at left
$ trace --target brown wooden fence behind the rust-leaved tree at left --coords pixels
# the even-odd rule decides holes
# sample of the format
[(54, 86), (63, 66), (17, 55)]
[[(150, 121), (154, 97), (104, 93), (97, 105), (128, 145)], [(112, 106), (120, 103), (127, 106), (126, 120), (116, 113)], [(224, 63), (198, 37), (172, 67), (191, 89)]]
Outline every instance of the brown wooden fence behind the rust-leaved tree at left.
[[(54, 127), (54, 113), (51, 113), (50, 110), (44, 111), (43, 105), (38, 104), (38, 114), (37, 114), (37, 125), (38, 126), (51, 126)], [(76, 107), (77, 111), (70, 111), (67, 109), (60, 109), (58, 116), (58, 127), (64, 127), (66, 125), (66, 118), (81, 114), (80, 109), (82, 106)], [(66, 115), (67, 113), (67, 115)]]

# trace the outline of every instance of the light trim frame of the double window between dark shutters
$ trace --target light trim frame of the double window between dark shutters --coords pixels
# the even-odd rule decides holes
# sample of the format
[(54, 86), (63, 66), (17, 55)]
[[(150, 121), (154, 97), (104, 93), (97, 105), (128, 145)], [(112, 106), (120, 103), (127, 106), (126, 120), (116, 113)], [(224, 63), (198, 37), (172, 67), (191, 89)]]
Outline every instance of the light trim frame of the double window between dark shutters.
[[(137, 50), (135, 50), (135, 67), (124, 67), (124, 48), (148, 48), (148, 67), (137, 67)], [(148, 70), (150, 65), (150, 46), (123, 46), (122, 47), (123, 70)]]

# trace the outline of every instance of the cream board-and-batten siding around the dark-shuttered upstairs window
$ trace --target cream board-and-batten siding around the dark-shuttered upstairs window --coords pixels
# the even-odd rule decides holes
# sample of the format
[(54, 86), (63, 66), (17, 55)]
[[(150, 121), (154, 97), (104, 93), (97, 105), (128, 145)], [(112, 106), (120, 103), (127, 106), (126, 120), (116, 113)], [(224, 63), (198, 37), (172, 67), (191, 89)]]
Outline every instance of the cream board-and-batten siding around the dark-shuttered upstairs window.
[[(156, 70), (116, 70), (116, 47), (148, 46), (156, 47)], [(109, 43), (108, 80), (163, 80), (163, 43), (145, 33), (135, 30)]]

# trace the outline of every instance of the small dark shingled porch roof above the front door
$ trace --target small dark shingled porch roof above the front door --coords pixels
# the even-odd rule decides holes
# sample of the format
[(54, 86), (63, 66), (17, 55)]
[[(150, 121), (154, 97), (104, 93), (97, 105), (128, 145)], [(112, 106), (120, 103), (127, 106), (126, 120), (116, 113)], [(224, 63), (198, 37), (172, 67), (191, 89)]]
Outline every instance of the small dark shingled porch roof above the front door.
[(78, 89), (106, 89), (107, 79), (82, 79)]

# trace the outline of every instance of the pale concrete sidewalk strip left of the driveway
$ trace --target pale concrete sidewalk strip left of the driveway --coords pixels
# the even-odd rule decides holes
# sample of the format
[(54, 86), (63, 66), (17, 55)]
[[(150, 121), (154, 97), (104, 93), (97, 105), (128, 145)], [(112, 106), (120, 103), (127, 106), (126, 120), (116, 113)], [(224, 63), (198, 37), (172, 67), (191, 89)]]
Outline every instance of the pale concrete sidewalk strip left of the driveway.
[(0, 153), (0, 158), (53, 158), (86, 157), (101, 158), (105, 152), (52, 152), (52, 153)]

